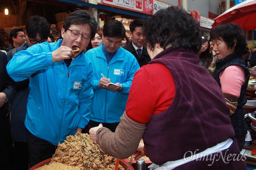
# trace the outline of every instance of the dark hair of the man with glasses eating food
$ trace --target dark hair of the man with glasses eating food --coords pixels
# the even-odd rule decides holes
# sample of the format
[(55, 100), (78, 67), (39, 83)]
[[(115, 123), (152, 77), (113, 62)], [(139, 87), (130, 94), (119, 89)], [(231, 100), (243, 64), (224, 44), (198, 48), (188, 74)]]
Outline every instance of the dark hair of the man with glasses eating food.
[(95, 37), (97, 31), (97, 22), (95, 17), (87, 10), (80, 9), (70, 13), (64, 20), (62, 28), (64, 28), (66, 32), (71, 25), (84, 25), (86, 23), (91, 27), (90, 38), (92, 39)]

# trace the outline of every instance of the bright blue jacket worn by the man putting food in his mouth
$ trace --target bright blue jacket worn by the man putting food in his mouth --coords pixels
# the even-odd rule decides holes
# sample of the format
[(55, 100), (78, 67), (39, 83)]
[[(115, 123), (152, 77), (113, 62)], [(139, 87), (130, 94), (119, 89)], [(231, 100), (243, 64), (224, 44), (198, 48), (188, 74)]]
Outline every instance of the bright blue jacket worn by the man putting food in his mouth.
[(17, 52), (7, 65), (13, 80), (30, 77), (26, 128), (54, 145), (87, 125), (93, 96), (90, 60), (81, 52), (68, 68), (64, 61), (52, 63), (59, 46), (61, 40), (35, 44)]

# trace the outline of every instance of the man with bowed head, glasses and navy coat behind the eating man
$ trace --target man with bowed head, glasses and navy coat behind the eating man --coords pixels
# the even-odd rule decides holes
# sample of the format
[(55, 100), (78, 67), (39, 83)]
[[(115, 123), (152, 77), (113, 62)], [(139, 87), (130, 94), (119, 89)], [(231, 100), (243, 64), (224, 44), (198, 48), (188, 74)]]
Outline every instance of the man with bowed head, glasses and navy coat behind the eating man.
[[(12, 48), (7, 53), (7, 59), (10, 61), (16, 52), (26, 50), (29, 46), (44, 42), (50, 34), (50, 24), (41, 16), (35, 15), (26, 21), (25, 36), (28, 40), (20, 47)], [(29, 97), (29, 78), (24, 81), (15, 82), (16, 95), (12, 101), (12, 121), (11, 135), (14, 145), (13, 166), (15, 170), (29, 169), (29, 149), (27, 143), (27, 133), (24, 124), (26, 118), (26, 105)]]

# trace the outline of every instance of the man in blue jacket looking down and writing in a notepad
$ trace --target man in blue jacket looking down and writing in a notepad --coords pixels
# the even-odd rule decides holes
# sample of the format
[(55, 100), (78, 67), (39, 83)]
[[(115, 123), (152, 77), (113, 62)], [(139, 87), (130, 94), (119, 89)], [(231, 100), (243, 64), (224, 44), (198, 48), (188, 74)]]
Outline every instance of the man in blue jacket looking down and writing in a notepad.
[(94, 95), (87, 132), (100, 123), (114, 132), (125, 111), (131, 81), (140, 65), (131, 52), (120, 48), (124, 37), (122, 23), (109, 20), (103, 27), (103, 43), (85, 53), (85, 57), (92, 61), (94, 75)]

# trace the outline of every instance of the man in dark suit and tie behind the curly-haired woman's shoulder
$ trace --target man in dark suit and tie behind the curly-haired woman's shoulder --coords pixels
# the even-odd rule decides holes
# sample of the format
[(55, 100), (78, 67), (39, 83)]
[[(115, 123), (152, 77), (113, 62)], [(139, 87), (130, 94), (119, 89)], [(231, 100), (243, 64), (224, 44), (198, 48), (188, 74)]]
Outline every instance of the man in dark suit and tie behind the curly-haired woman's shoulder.
[(145, 19), (135, 19), (130, 23), (130, 37), (132, 41), (128, 43), (124, 49), (131, 52), (137, 59), (140, 67), (146, 65), (151, 58), (148, 55), (147, 47), (145, 44), (145, 36), (143, 36), (142, 26), (145, 23)]

